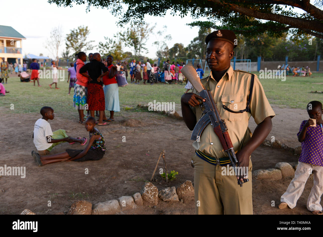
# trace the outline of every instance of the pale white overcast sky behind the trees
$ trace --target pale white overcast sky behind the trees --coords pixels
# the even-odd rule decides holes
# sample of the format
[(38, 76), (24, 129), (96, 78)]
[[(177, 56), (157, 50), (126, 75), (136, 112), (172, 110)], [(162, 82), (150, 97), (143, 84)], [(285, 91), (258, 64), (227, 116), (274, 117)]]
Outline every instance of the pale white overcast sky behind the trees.
[[(95, 46), (92, 50), (93, 53), (97, 51), (96, 45), (98, 45), (98, 42), (105, 41), (104, 36), (111, 38), (115, 33), (124, 31), (129, 26), (127, 25), (125, 28), (118, 27), (116, 22), (119, 20), (111, 15), (109, 9), (91, 7), (90, 12), (86, 13), (86, 5), (74, 4), (73, 7), (58, 7), (56, 4), (49, 4), (44, 0), (16, 0), (14, 2), (2, 1), (1, 9), (0, 25), (12, 26), (26, 37), (26, 40), (22, 42), (23, 54), (39, 55), (42, 53), (44, 56), (53, 57), (44, 46), (50, 36), (51, 29), (55, 26), (62, 27), (64, 39), (71, 29), (81, 25), (88, 26), (90, 29), (88, 40), (95, 41), (93, 43)], [(199, 20), (206, 20), (206, 18), (200, 18)], [(170, 14), (166, 14), (166, 17), (145, 16), (145, 22), (151, 25), (156, 23), (155, 35), (157, 31), (163, 30), (164, 25), (167, 26), (166, 34), (172, 36), (169, 48), (175, 43), (182, 43), (187, 46), (198, 35), (198, 27), (186, 26), (187, 23), (193, 21), (191, 16), (184, 18)], [(153, 42), (161, 39), (156, 38), (155, 35), (151, 34), (147, 41), (146, 47), (149, 53), (143, 53), (142, 55), (156, 58), (157, 50)], [(62, 56), (64, 50), (65, 42), (60, 47), (59, 57)], [(124, 51), (134, 53), (133, 49), (127, 46)]]

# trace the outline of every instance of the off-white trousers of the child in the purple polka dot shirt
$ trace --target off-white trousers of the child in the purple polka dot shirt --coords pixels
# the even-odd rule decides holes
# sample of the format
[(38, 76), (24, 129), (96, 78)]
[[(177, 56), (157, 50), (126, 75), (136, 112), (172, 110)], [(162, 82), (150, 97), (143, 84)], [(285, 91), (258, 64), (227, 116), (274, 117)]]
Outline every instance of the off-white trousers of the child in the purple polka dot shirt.
[(314, 185), (307, 199), (307, 209), (309, 211), (322, 211), (320, 201), (323, 193), (323, 167), (318, 165), (298, 162), (295, 177), (290, 182), (286, 192), (281, 196), (280, 201), (286, 202), (290, 208), (294, 208), (312, 172)]

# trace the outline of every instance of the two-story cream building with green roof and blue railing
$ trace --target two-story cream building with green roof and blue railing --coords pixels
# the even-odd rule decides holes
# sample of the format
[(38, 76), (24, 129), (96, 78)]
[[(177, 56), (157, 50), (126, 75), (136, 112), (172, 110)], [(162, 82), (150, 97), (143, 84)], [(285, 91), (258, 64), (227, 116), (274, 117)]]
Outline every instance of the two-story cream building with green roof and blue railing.
[(0, 62), (23, 64), (22, 40), (25, 36), (11, 26), (0, 26)]

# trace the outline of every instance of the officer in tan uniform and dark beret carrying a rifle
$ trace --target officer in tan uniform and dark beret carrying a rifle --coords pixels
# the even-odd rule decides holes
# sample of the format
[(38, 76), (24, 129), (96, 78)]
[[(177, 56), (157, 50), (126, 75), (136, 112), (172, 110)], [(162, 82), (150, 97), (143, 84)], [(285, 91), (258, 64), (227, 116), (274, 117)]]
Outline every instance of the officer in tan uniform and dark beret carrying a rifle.
[[(214, 101), (224, 119), (234, 145), (238, 166), (248, 169), (248, 182), (240, 187), (237, 179), (243, 176), (229, 175), (221, 163), (227, 157), (213, 127), (209, 124), (195, 141), (196, 152), (192, 158), (196, 214), (253, 214), (251, 153), (266, 139), (272, 129), (275, 116), (257, 76), (233, 70), (230, 65), (236, 47), (236, 36), (231, 30), (217, 30), (205, 38), (206, 62), (211, 69), (208, 77), (201, 79), (203, 86), (214, 96)], [(252, 85), (252, 81), (253, 85)], [(251, 99), (248, 101), (249, 94)], [(204, 100), (193, 89), (182, 95), (182, 115), (186, 126), (193, 130), (201, 118), (199, 101)], [(247, 106), (249, 104), (249, 108)], [(223, 107), (225, 106), (225, 108)], [(245, 112), (234, 113), (240, 110)], [(231, 112), (230, 112), (231, 111)], [(203, 115), (207, 116), (207, 115)], [(251, 137), (248, 121), (252, 116), (257, 127)], [(227, 160), (224, 159), (224, 160)], [(223, 166), (222, 166), (223, 165)], [(246, 177), (245, 177), (246, 178)]]

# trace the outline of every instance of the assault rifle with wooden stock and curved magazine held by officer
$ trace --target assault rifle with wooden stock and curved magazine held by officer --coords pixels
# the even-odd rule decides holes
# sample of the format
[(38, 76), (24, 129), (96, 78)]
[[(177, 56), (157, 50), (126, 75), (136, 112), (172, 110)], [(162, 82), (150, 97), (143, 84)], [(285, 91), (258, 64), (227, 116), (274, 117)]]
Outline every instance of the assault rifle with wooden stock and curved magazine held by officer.
[[(181, 73), (191, 82), (193, 87), (197, 90), (202, 98), (205, 101), (200, 101), (200, 108), (202, 110), (202, 118), (196, 123), (191, 140), (200, 141), (200, 136), (205, 129), (205, 127), (211, 123), (214, 128), (214, 132), (220, 139), (221, 145), (224, 151), (228, 154), (230, 159), (230, 165), (234, 168), (235, 174), (237, 174), (237, 164), (238, 160), (235, 155), (233, 145), (228, 133), (228, 128), (225, 125), (224, 120), (221, 118), (218, 108), (214, 102), (213, 96), (210, 91), (206, 90), (200, 81), (200, 77), (198, 76), (196, 70), (191, 65), (186, 65), (181, 69)], [(204, 109), (203, 109), (204, 107)], [(203, 114), (205, 114), (203, 116)], [(244, 182), (249, 181), (248, 179), (243, 179)], [(243, 182), (238, 180), (238, 184), (242, 187)]]

